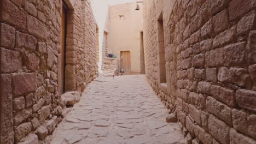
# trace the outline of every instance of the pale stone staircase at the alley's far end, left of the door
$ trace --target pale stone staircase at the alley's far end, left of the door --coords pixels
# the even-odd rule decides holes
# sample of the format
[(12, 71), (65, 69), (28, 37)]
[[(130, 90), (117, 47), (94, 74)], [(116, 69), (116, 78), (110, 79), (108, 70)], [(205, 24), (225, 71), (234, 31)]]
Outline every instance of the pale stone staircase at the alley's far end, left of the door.
[(117, 70), (116, 58), (104, 57), (100, 76), (114, 76), (115, 70)]

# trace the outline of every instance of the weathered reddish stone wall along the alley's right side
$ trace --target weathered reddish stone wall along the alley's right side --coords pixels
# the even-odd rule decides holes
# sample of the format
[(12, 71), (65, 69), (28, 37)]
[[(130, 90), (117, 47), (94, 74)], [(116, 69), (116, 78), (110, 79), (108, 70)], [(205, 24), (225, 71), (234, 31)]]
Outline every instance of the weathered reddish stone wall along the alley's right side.
[[(144, 1), (147, 79), (189, 142), (255, 143), (255, 10), (253, 0)], [(167, 94), (158, 83), (161, 11)]]

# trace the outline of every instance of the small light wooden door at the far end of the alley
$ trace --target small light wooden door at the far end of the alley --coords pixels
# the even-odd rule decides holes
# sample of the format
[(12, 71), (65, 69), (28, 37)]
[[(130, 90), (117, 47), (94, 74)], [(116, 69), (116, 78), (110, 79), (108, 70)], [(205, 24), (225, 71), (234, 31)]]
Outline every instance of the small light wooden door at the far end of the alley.
[(121, 51), (121, 69), (125, 73), (131, 71), (131, 52), (130, 51)]

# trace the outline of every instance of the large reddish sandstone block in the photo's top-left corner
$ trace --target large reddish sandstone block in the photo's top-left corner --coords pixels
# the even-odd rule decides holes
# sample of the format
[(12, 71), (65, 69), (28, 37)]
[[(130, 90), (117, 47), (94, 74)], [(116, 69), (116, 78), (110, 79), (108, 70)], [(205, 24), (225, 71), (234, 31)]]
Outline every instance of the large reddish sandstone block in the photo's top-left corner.
[(2, 1), (2, 20), (20, 29), (26, 29), (26, 15), (8, 0)]

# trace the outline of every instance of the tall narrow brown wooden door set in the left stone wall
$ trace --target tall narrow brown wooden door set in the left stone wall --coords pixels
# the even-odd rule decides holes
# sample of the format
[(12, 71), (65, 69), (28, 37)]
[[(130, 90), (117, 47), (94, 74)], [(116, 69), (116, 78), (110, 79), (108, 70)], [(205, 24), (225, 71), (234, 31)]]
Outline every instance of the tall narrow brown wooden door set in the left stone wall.
[(67, 6), (63, 2), (61, 15), (61, 93), (65, 92), (65, 61), (66, 61), (66, 15)]

